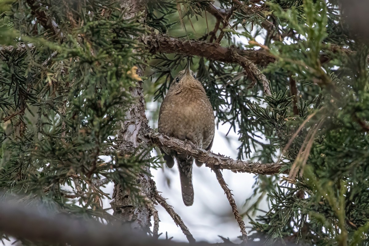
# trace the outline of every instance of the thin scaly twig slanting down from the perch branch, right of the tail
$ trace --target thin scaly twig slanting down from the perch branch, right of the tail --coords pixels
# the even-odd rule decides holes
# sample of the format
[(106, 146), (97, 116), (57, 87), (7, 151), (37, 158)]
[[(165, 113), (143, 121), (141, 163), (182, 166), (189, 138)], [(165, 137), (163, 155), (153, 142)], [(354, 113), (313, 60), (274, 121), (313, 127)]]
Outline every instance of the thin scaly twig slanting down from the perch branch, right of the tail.
[(231, 208), (232, 208), (232, 213), (234, 214), (234, 218), (236, 219), (236, 221), (239, 225), (240, 231), (241, 231), (242, 244), (246, 244), (247, 243), (247, 233), (246, 233), (246, 228), (245, 228), (245, 222), (243, 221), (241, 215), (239, 214), (239, 212), (237, 210), (237, 205), (236, 205), (236, 202), (233, 198), (231, 190), (228, 188), (227, 184), (225, 183), (221, 171), (219, 169), (213, 169), (213, 171), (214, 171), (215, 175), (217, 176), (217, 180), (218, 180), (220, 186), (223, 188), (224, 193), (227, 196), (228, 201), (230, 202), (230, 205), (231, 205)]

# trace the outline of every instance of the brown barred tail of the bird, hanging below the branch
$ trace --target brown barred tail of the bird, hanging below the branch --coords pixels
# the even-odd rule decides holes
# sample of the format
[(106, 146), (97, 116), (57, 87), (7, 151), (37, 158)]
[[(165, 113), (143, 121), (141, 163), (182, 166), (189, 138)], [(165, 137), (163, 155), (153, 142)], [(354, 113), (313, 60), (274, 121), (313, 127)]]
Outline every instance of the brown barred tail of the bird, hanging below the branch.
[(186, 154), (177, 156), (179, 179), (181, 181), (182, 199), (184, 205), (191, 206), (193, 204), (193, 186), (192, 186), (192, 164), (193, 158)]

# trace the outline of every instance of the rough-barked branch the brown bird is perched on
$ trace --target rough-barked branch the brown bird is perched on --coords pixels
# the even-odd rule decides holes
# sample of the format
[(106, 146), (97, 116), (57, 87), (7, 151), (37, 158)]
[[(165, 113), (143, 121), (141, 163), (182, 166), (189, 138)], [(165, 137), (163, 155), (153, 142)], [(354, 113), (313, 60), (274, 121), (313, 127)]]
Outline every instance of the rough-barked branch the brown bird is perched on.
[[(278, 174), (281, 167), (280, 164), (259, 162), (244, 162), (242, 160), (234, 160), (230, 157), (215, 154), (210, 151), (201, 149), (192, 142), (184, 142), (177, 138), (166, 136), (150, 129), (147, 136), (151, 142), (159, 147), (169, 147), (177, 152), (186, 153), (201, 162), (206, 163), (206, 166), (213, 169), (227, 169), (233, 172), (240, 173), (255, 173), (255, 174)], [(285, 172), (285, 173), (288, 173)]]

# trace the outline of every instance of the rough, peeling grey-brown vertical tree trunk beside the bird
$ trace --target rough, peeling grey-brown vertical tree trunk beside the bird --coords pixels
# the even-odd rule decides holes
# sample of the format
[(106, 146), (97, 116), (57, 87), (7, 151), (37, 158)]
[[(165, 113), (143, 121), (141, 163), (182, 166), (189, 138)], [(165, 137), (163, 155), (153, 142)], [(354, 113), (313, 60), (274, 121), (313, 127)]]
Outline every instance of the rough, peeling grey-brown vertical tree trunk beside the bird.
[[(144, 13), (147, 0), (122, 0), (121, 9), (124, 12), (125, 19), (130, 19), (136, 15)], [(144, 15), (141, 15), (143, 23)], [(137, 75), (142, 77), (144, 68), (137, 70)], [(148, 121), (145, 115), (145, 98), (142, 89), (142, 81), (136, 83), (135, 87), (130, 88), (130, 94), (134, 99), (130, 105), (122, 105), (126, 111), (126, 120), (121, 122), (121, 130), (118, 132), (120, 139), (120, 150), (122, 155), (131, 155), (139, 148), (144, 150), (149, 147), (145, 132), (148, 129)], [(137, 151), (135, 152), (137, 153)], [(146, 154), (144, 158), (149, 158)], [(152, 183), (149, 179), (149, 166), (143, 167), (144, 173), (137, 173), (136, 182), (141, 188), (143, 196), (151, 198)], [(114, 184), (113, 201), (111, 207), (114, 209), (114, 215), (122, 221), (131, 222), (133, 228), (148, 232), (151, 226), (150, 218), (152, 215), (149, 203), (133, 204), (129, 191), (124, 190), (119, 183)]]

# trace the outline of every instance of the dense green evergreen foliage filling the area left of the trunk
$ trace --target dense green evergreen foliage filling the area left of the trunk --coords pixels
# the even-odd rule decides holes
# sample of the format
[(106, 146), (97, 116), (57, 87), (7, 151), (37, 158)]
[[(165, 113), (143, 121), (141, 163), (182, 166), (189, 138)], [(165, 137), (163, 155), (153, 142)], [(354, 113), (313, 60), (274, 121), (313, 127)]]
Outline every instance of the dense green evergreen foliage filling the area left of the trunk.
[(144, 30), (136, 18), (123, 20), (111, 1), (43, 6), (52, 6), (62, 34), (35, 21), (26, 1), (13, 1), (2, 15), (2, 27), (13, 27), (7, 34), (14, 45), (18, 37), (31, 43), (21, 53), (5, 51), (0, 66), (1, 191), (111, 220), (102, 208), (102, 199), (111, 197), (102, 188), (115, 180), (137, 194), (135, 172), (152, 161), (113, 148), (122, 107), (132, 100), (129, 87), (140, 80), (135, 66), (144, 53), (132, 50), (142, 50)]

